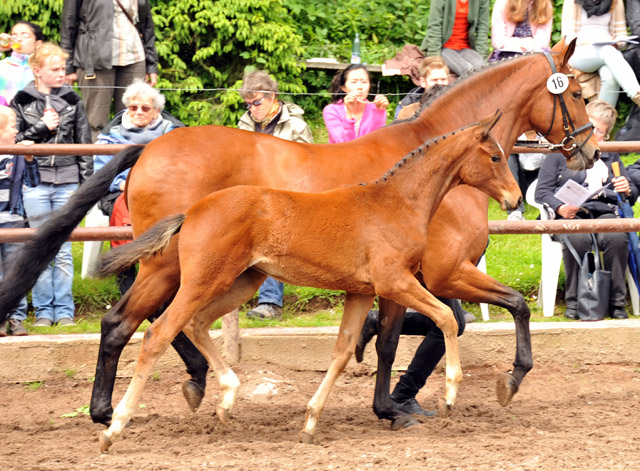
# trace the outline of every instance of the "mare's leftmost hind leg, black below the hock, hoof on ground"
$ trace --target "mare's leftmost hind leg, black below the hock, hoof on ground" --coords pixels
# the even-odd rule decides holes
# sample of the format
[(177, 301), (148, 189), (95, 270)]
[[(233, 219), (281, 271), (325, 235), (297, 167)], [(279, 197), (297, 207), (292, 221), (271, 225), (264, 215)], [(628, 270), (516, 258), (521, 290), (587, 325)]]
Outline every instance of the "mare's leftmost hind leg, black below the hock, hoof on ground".
[(131, 289), (102, 319), (91, 395), (91, 419), (97, 423), (109, 425), (111, 422), (111, 398), (122, 350), (142, 321), (160, 309), (178, 287), (175, 273), (166, 268), (164, 271), (158, 267), (152, 270), (145, 268), (141, 266)]

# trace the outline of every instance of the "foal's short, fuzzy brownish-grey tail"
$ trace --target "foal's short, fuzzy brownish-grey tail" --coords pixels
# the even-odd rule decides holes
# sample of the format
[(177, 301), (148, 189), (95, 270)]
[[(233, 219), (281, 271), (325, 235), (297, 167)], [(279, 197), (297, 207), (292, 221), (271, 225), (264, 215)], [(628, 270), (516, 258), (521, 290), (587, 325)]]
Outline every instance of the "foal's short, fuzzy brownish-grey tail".
[(108, 251), (100, 260), (98, 274), (108, 276), (113, 273), (121, 273), (141, 258), (161, 253), (167, 248), (173, 236), (180, 232), (186, 217), (184, 214), (169, 216), (133, 242)]

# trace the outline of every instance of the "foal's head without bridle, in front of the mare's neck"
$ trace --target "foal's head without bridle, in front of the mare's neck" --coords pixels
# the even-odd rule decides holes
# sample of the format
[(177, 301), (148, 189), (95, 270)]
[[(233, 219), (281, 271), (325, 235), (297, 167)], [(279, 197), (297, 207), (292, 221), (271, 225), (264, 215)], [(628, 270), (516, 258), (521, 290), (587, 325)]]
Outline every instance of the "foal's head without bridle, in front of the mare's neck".
[(503, 210), (513, 210), (522, 201), (522, 192), (513, 178), (507, 165), (508, 156), (491, 135), (491, 129), (496, 125), (502, 113), (497, 111), (477, 125), (469, 132), (473, 138), (470, 144), (468, 159), (465, 159), (460, 169), (463, 183), (474, 186), (494, 198)]

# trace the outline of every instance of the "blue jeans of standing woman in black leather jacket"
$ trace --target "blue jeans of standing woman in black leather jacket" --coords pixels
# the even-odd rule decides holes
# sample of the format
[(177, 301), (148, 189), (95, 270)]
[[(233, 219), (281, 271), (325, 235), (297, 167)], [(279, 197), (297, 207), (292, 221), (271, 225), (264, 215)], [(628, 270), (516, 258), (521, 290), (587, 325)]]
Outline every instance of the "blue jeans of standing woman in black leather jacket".
[[(23, 188), (24, 208), (31, 227), (39, 227), (47, 222), (50, 214), (64, 206), (77, 183), (54, 185), (41, 183), (35, 188)], [(36, 319), (73, 319), (75, 305), (71, 287), (73, 285), (73, 257), (71, 242), (62, 244), (53, 263), (42, 272), (33, 287), (32, 300)]]

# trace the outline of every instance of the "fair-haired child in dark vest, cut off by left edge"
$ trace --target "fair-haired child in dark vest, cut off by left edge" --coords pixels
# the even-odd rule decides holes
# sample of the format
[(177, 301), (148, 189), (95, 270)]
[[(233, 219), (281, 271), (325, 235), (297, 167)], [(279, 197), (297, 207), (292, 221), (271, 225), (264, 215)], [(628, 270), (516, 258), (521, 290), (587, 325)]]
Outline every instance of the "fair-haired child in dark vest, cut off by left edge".
[[(16, 114), (11, 108), (0, 106), (0, 145), (16, 142)], [(25, 141), (23, 141), (25, 142)], [(26, 142), (25, 142), (26, 143)], [(24, 227), (22, 185), (33, 187), (40, 183), (38, 163), (33, 155), (0, 155), (0, 227)], [(0, 244), (0, 279), (9, 268), (12, 254), (20, 244)], [(27, 298), (9, 314), (9, 328), (13, 335), (27, 335), (23, 321), (27, 318)], [(0, 337), (7, 335), (7, 323), (0, 323)]]

